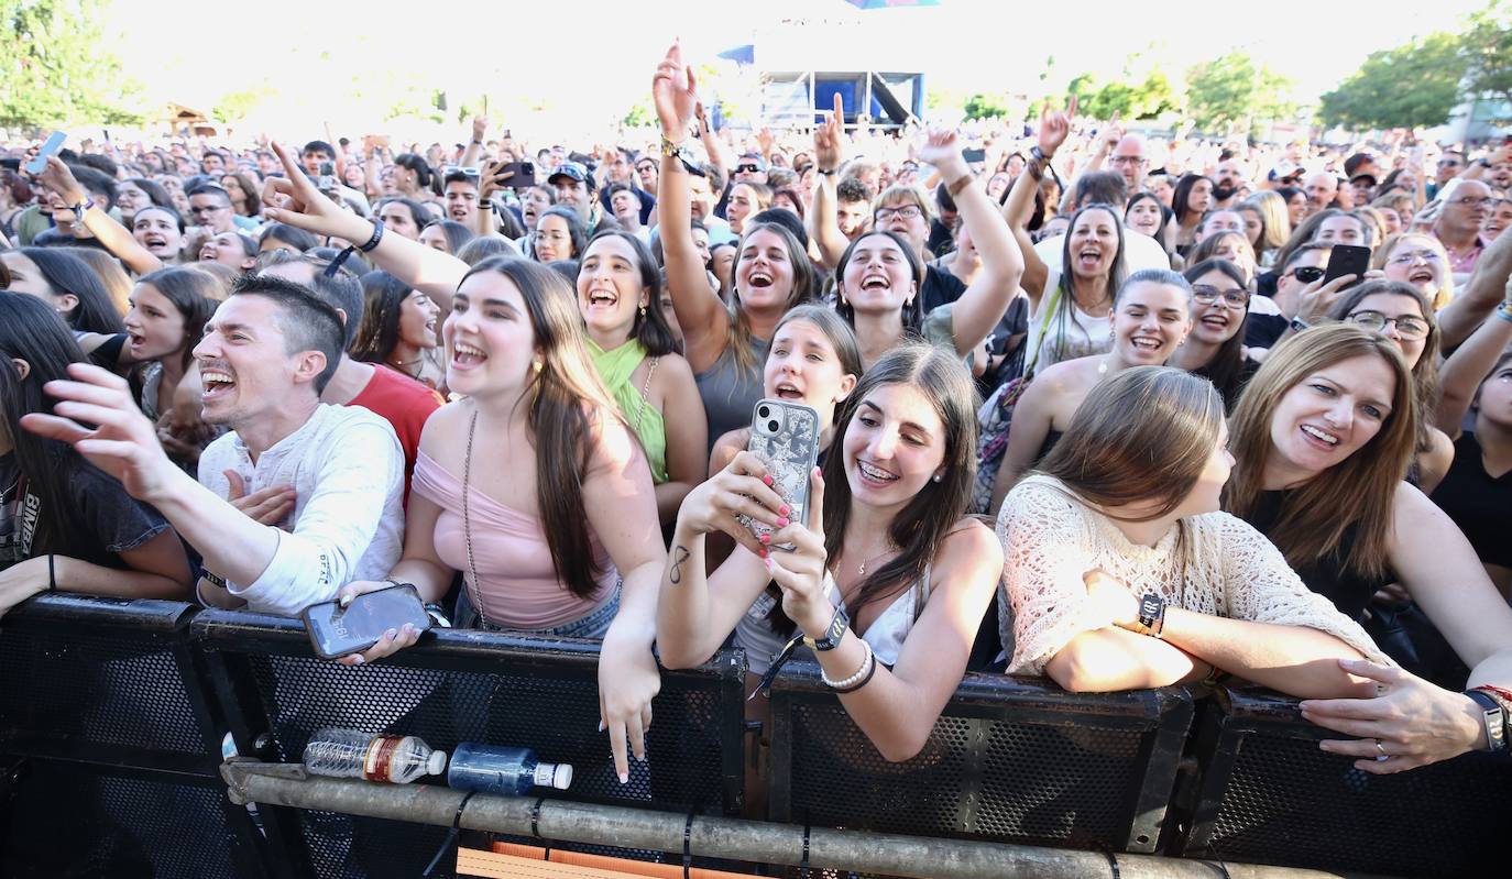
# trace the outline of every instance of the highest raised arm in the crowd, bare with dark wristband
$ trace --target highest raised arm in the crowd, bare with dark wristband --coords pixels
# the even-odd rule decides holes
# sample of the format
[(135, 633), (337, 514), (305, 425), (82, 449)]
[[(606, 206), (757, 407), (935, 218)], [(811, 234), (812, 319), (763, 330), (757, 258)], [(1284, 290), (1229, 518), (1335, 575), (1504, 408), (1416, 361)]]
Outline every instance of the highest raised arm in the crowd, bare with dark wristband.
[[(667, 50), (667, 57), (656, 66), (652, 98), (661, 119), (662, 139), (679, 150), (688, 139), (688, 125), (692, 122), (694, 104), (699, 100), (696, 88), (692, 71), (682, 63), (682, 47), (673, 44)], [(694, 373), (700, 373), (724, 353), (730, 313), (720, 296), (709, 288), (703, 258), (694, 246), (691, 198), (688, 169), (683, 168), (682, 159), (676, 154), (662, 156), (656, 205), (661, 210), (667, 287), (677, 325), (682, 326), (688, 365)]]

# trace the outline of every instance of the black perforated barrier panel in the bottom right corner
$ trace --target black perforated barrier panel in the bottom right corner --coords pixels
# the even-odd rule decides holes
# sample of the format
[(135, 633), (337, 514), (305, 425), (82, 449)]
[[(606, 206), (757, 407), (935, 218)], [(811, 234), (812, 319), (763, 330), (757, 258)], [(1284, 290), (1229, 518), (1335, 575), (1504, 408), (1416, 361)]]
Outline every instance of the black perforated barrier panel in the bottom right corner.
[(1512, 832), (1512, 761), (1488, 754), (1396, 775), (1318, 751), (1337, 734), (1296, 699), (1216, 693), (1199, 714), (1169, 853), (1409, 876), (1498, 874)]

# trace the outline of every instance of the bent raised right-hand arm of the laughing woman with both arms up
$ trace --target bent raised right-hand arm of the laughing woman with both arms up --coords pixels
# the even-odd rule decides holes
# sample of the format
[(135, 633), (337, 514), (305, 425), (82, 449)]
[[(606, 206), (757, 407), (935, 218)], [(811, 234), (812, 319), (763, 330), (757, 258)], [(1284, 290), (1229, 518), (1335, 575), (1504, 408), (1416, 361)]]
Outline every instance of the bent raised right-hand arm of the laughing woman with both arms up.
[(945, 178), (962, 224), (981, 258), (981, 270), (951, 311), (956, 352), (965, 356), (987, 338), (1009, 310), (1019, 278), (1024, 276), (1024, 255), (1009, 233), (1009, 224), (987, 198), (986, 187), (971, 177), (954, 131), (931, 133), (919, 159), (936, 166)]

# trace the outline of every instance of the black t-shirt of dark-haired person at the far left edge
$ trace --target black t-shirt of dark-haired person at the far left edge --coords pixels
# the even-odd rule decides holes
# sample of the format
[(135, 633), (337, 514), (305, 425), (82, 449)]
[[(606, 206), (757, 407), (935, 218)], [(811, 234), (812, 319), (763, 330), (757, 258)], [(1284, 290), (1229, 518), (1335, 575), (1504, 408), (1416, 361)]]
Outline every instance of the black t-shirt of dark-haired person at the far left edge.
[(18, 479), (15, 455), (0, 456), (0, 569), (24, 559), (56, 553), (82, 559), (104, 568), (125, 568), (119, 553), (136, 550), (168, 529), (153, 507), (125, 494), (119, 482), (88, 462), (74, 459), (77, 467), (68, 480), (64, 533), (50, 533), (41, 524), (42, 498), (35, 486)]

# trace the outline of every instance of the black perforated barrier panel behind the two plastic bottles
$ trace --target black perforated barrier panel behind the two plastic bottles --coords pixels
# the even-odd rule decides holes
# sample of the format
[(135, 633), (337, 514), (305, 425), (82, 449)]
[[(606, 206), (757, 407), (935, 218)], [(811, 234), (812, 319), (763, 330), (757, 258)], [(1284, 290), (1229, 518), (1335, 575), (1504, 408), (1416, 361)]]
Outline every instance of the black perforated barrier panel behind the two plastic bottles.
[[(322, 726), (401, 729), (451, 751), (458, 742), (534, 748), (575, 767), (553, 797), (736, 814), (741, 808), (744, 657), (721, 652), (699, 669), (664, 671), (647, 760), (620, 784), (599, 729), (597, 642), (438, 630), (434, 639), (370, 666), (311, 655), (299, 621), (203, 612), (195, 645), (228, 708), (237, 751), (298, 761)], [(293, 819), (319, 876), (375, 868), (419, 874), (445, 831), (378, 819), (298, 811)]]

